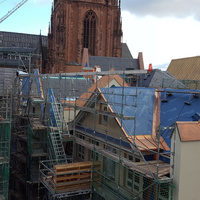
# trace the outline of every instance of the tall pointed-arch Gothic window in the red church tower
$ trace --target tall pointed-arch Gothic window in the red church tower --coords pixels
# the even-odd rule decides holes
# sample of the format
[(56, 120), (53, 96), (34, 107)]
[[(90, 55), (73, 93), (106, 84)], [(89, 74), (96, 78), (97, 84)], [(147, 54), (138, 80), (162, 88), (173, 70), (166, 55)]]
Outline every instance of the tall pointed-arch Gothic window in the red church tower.
[(96, 21), (97, 17), (93, 11), (90, 10), (85, 14), (83, 23), (83, 47), (88, 48), (90, 55), (95, 55)]

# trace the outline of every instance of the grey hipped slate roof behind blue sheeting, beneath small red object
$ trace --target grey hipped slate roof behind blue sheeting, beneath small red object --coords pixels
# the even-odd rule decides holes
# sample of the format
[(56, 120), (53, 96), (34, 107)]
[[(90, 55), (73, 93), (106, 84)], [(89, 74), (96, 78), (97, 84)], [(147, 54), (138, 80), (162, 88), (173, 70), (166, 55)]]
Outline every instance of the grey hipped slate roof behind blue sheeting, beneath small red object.
[(142, 74), (139, 81), (140, 87), (164, 87), (164, 88), (186, 88), (186, 86), (177, 80), (167, 71), (155, 69), (149, 74)]

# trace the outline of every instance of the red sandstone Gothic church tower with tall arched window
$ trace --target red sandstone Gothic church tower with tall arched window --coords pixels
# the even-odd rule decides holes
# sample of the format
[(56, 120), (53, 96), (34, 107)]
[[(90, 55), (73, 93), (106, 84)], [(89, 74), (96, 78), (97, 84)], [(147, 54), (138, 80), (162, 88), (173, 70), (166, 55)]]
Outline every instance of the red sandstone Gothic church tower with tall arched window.
[(81, 71), (89, 55), (121, 57), (120, 0), (54, 0), (46, 73)]

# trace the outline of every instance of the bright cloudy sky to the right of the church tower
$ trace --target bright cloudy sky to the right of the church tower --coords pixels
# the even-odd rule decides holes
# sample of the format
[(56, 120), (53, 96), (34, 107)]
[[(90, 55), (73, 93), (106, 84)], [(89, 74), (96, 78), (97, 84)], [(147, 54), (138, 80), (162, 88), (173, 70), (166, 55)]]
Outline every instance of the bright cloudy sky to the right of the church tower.
[(200, 0), (122, 0), (123, 41), (145, 66), (200, 53)]

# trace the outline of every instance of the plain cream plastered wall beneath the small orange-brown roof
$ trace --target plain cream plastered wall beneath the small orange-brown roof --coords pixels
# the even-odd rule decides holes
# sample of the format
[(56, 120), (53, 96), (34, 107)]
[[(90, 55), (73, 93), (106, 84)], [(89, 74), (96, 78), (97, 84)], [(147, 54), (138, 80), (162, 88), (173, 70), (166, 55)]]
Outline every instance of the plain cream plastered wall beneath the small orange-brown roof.
[[(175, 136), (176, 134), (176, 136)], [(200, 199), (200, 141), (180, 141), (176, 129), (173, 200)]]

